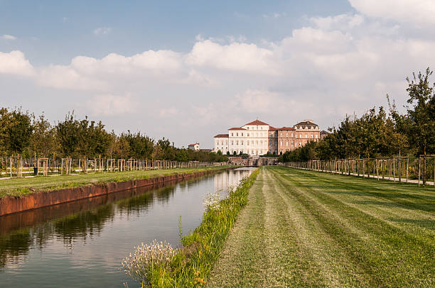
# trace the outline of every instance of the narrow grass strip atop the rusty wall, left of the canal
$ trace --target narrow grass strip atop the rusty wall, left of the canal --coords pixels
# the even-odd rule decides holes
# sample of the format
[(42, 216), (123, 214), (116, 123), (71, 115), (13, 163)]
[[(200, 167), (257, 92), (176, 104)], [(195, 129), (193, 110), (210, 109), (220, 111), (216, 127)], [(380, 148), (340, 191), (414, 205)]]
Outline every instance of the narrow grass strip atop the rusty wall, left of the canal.
[(108, 182), (125, 182), (131, 179), (147, 179), (166, 175), (219, 170), (230, 166), (182, 168), (168, 170), (145, 170), (129, 172), (103, 172), (96, 174), (62, 175), (53, 177), (12, 178), (0, 180), (0, 198), (23, 196), (33, 192), (45, 192), (64, 188), (80, 187)]

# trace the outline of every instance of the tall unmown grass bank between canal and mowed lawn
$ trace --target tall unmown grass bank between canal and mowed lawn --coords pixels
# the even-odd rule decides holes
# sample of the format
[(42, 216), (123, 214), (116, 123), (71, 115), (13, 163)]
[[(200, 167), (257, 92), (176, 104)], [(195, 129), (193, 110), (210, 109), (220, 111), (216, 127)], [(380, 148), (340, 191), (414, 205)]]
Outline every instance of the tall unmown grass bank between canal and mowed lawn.
[[(151, 287), (203, 287), (240, 209), (247, 204), (249, 188), (258, 173), (259, 170), (256, 170), (243, 179), (239, 187), (230, 192), (226, 199), (221, 200), (215, 209), (208, 209), (200, 226), (182, 238), (183, 248), (177, 250), (175, 255), (171, 254), (172, 250), (165, 247), (155, 249), (166, 251), (165, 257), (169, 255), (171, 262), (163, 265), (151, 264), (145, 266), (147, 268), (142, 265), (146, 262), (144, 258), (135, 262), (132, 265), (134, 270), (140, 270), (135, 278), (148, 279), (147, 284)], [(145, 281), (143, 283), (146, 286)]]

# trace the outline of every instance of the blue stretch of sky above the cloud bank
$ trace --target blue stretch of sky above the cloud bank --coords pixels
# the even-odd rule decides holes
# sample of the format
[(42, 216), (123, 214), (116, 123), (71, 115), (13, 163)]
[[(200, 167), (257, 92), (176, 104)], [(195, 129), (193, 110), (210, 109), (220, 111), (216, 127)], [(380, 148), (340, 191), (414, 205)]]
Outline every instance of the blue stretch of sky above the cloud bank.
[[(272, 2), (272, 3), (271, 3)], [(301, 3), (302, 2), (302, 3)], [(121, 4), (122, 3), (122, 4)], [(0, 1), (1, 32), (18, 41), (3, 50), (26, 52), (34, 64), (68, 64), (76, 55), (187, 52), (196, 35), (280, 40), (304, 16), (352, 11), (348, 1)], [(95, 29), (109, 35), (95, 37)]]

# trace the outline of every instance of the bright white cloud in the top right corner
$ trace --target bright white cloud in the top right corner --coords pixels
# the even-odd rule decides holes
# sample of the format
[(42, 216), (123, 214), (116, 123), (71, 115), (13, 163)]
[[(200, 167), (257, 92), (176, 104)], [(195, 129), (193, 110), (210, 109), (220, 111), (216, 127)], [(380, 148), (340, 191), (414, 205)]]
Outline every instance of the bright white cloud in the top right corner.
[(367, 16), (415, 23), (418, 26), (435, 25), (433, 0), (349, 0), (350, 4)]

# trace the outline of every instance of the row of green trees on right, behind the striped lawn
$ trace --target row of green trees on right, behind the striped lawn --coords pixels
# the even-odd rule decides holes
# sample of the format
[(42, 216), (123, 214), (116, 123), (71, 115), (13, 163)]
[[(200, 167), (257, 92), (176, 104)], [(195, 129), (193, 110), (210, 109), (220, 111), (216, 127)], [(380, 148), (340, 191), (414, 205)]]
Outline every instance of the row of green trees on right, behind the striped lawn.
[(338, 127), (318, 142), (280, 155), (281, 162), (329, 160), (361, 157), (419, 156), (435, 154), (435, 82), (432, 71), (407, 77), (405, 113), (399, 113), (394, 101), (388, 111), (375, 107), (358, 117), (345, 116)]

